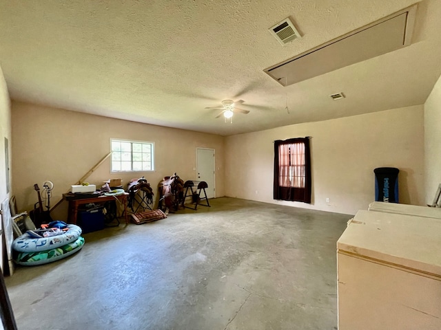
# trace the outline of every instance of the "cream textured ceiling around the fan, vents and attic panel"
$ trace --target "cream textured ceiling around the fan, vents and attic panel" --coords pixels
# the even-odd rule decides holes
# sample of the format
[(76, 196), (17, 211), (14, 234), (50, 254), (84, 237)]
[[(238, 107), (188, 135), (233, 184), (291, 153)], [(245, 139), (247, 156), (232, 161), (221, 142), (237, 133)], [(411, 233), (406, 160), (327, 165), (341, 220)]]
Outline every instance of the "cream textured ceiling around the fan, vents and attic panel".
[[(441, 74), (441, 1), (418, 4), (409, 47), (283, 87), (263, 69), (414, 0), (0, 0), (10, 96), (219, 135), (422, 104)], [(291, 17), (302, 39), (268, 28)], [(347, 98), (333, 101), (342, 91)], [(247, 115), (215, 118), (221, 100)], [(289, 113), (285, 110), (286, 104)]]

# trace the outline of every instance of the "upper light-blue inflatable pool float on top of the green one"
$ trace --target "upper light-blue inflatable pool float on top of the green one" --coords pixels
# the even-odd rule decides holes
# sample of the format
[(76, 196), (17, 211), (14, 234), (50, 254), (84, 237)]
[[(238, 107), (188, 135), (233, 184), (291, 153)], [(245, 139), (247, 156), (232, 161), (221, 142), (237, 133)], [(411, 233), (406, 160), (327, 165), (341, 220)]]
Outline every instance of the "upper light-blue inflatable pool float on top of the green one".
[(81, 228), (78, 225), (68, 225), (69, 230), (64, 234), (50, 237), (33, 238), (25, 232), (14, 239), (12, 249), (17, 252), (40, 252), (59, 248), (68, 243), (74, 242), (81, 235)]

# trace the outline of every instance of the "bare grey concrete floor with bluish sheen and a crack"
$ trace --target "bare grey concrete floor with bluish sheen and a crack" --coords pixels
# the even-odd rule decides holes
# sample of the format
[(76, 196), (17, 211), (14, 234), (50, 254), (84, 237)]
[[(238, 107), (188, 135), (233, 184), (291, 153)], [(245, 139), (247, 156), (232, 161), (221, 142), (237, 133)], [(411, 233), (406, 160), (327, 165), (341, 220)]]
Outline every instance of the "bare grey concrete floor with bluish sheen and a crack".
[(351, 216), (211, 203), (17, 267), (6, 285), (18, 328), (337, 329), (336, 241)]

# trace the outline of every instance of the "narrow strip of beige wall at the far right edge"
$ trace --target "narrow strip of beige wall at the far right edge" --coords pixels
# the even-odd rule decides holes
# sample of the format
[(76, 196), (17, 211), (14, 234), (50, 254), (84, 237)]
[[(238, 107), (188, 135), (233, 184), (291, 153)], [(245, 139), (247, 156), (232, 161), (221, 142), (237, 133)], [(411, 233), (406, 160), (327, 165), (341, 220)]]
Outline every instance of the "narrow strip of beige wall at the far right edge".
[(441, 77), (424, 103), (425, 202), (431, 204), (441, 184)]

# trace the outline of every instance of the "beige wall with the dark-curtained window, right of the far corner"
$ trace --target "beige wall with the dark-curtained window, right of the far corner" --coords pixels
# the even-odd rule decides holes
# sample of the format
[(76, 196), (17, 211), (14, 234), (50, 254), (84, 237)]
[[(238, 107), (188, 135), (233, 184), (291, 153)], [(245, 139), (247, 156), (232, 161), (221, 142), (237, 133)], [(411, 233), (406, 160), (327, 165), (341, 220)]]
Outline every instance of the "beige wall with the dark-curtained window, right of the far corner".
[[(391, 166), (400, 168), (400, 202), (422, 205), (423, 120), (414, 106), (226, 137), (225, 195), (355, 214), (375, 198), (373, 169)], [(273, 141), (304, 136), (312, 137), (312, 203), (275, 201)]]

